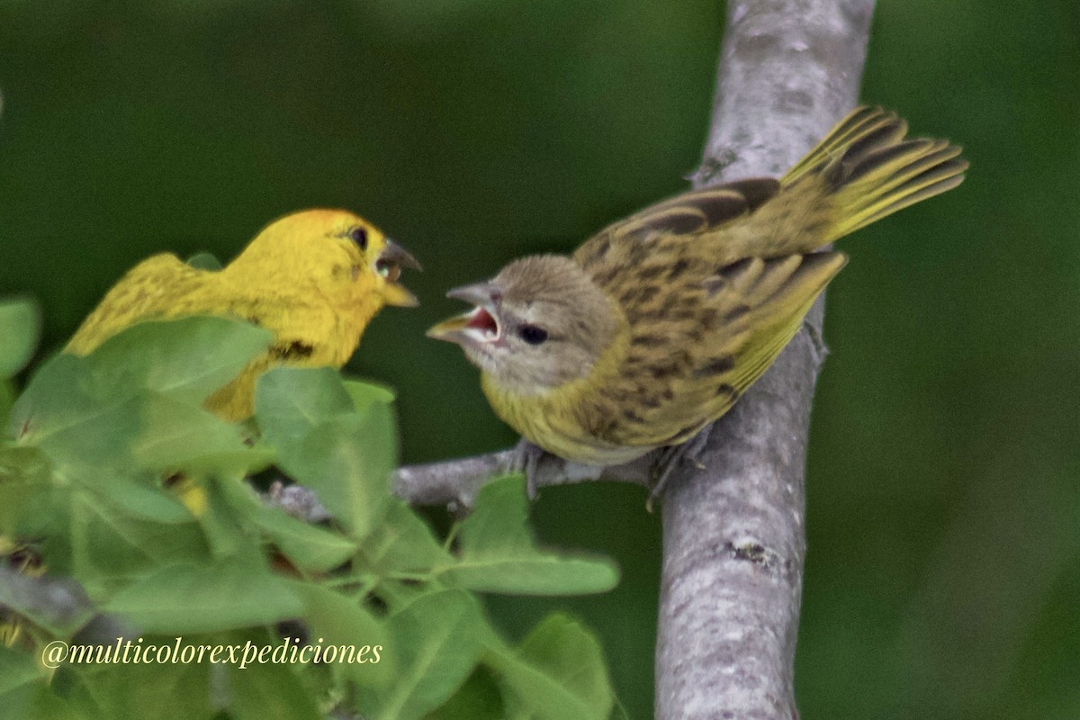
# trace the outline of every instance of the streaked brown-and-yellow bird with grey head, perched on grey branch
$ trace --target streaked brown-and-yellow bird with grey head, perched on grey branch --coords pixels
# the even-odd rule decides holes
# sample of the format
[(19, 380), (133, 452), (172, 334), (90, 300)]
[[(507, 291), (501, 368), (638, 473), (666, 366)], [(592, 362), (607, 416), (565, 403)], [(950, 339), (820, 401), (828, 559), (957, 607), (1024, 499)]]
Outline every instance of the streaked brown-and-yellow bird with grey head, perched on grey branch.
[(843, 267), (822, 247), (961, 182), (960, 148), (906, 132), (861, 107), (780, 179), (677, 195), (570, 257), (451, 290), (475, 309), (428, 335), (460, 344), (496, 413), (554, 454), (611, 465), (685, 443), (761, 377)]

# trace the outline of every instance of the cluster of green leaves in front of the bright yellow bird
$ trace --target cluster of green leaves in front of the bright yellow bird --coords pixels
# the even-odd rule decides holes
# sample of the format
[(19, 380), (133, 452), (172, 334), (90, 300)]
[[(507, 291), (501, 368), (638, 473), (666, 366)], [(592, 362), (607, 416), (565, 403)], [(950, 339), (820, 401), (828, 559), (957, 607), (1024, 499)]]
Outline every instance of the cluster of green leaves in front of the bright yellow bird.
[[(58, 354), (16, 395), (32, 303), (0, 303), (0, 553), (69, 579), (89, 602), (0, 583), (0, 707), (42, 718), (607, 718), (600, 649), (552, 615), (512, 644), (477, 593), (606, 590), (604, 559), (537, 547), (519, 477), (487, 486), (445, 539), (389, 491), (388, 390), (332, 369), (276, 368), (255, 417), (203, 400), (265, 351), (220, 317), (145, 323), (86, 357)], [(313, 490), (319, 525), (266, 502), (253, 475)], [(17, 561), (22, 559), (21, 561)], [(31, 594), (32, 595), (32, 594)], [(102, 620), (120, 637), (94, 637)], [(98, 633), (99, 635), (99, 633)], [(49, 643), (354, 648), (366, 662), (86, 663)], [(361, 649), (366, 650), (361, 651)], [(345, 651), (342, 652), (342, 656)]]

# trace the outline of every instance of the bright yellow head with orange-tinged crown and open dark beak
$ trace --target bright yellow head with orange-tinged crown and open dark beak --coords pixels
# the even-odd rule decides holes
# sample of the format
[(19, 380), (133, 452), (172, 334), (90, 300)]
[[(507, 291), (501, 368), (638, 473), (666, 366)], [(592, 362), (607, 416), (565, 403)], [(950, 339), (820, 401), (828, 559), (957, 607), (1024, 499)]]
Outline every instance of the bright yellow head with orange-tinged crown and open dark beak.
[(419, 270), (420, 263), (367, 220), (310, 209), (264, 228), (222, 272), (260, 289), (318, 293), (340, 311), (363, 307), (374, 314), (383, 304), (417, 304), (397, 282), (402, 268)]

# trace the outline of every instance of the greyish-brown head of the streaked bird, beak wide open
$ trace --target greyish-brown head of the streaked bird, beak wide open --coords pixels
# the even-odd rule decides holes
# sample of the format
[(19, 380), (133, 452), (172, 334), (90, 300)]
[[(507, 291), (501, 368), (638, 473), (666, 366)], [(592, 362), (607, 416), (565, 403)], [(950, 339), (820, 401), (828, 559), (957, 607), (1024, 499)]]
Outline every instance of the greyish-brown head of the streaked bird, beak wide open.
[(476, 308), (432, 327), (428, 337), (458, 343), (470, 362), (519, 395), (589, 375), (621, 318), (577, 262), (556, 255), (515, 260), (491, 281), (447, 297)]

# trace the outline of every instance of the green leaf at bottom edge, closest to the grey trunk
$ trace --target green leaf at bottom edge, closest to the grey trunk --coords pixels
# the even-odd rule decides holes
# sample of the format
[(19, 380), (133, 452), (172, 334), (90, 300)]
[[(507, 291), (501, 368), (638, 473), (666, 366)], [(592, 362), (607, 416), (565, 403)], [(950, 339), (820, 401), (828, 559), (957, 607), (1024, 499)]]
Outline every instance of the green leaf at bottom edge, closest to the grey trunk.
[(615, 702), (596, 638), (563, 614), (549, 615), (515, 656), (494, 651), (489, 664), (510, 692), (508, 717), (606, 720)]

